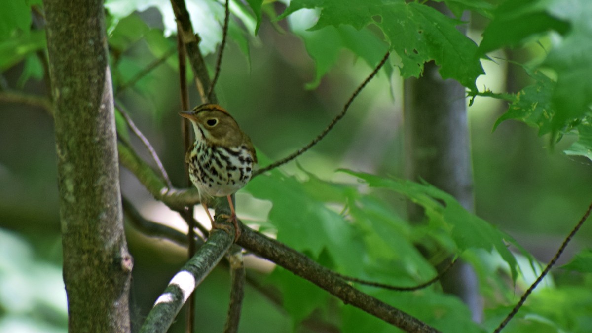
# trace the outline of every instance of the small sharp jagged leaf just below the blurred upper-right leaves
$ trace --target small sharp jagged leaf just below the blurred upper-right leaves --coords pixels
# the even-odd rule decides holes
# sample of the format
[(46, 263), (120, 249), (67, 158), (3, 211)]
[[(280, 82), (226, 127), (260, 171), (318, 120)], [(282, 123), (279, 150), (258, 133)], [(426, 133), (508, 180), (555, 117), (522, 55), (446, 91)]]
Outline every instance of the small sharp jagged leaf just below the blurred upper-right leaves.
[(551, 106), (551, 96), (555, 82), (540, 71), (526, 71), (535, 83), (515, 95), (514, 101), (494, 124), (493, 129), (504, 120), (515, 119), (539, 129), (539, 136), (551, 132), (551, 119), (555, 111)]

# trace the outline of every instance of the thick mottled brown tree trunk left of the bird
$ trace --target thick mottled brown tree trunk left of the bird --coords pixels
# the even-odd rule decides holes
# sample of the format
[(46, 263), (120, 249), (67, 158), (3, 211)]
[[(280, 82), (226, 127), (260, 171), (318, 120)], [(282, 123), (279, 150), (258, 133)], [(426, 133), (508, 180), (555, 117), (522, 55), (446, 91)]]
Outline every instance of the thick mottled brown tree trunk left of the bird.
[(121, 212), (102, 0), (45, 0), (70, 332), (129, 332), (132, 258)]

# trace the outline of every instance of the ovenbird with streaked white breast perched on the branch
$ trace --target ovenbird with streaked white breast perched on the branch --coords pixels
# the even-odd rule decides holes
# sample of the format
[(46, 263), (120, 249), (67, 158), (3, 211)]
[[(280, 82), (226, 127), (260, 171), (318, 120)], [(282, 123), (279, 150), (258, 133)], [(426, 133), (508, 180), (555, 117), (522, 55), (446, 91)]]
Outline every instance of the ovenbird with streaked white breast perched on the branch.
[(189, 178), (200, 192), (200, 201), (210, 217), (213, 228), (229, 230), (214, 222), (208, 212), (210, 197), (227, 197), (230, 204), (229, 222), (234, 223), (235, 241), (240, 228), (231, 195), (251, 179), (257, 163), (255, 148), (230, 114), (217, 104), (202, 104), (181, 116), (189, 119), (195, 131), (195, 142), (185, 155)]

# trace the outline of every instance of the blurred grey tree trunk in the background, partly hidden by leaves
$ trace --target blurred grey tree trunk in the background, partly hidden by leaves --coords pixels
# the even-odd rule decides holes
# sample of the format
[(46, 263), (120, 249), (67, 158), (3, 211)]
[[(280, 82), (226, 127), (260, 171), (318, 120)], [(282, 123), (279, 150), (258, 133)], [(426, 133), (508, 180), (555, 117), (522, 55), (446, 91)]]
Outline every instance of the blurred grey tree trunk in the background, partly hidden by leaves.
[[(443, 3), (431, 4), (443, 11)], [(448, 13), (447, 13), (448, 14)], [(446, 191), (466, 210), (474, 210), (472, 167), (465, 88), (443, 80), (434, 62), (425, 64), (423, 76), (404, 84), (404, 129), (406, 177), (422, 178)], [(419, 206), (409, 205), (411, 220), (423, 217)], [(482, 300), (472, 267), (464, 262), (442, 278), (445, 292), (453, 293), (469, 306), (474, 321), (482, 319)]]

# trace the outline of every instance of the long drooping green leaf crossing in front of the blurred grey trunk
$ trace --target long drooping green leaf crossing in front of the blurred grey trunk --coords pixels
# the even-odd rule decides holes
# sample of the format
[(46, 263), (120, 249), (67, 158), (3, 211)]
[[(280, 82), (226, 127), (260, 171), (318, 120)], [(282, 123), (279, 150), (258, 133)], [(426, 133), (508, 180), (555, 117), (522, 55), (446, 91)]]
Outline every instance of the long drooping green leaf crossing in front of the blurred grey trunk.
[(481, 248), (491, 252), (496, 249), (504, 261), (510, 265), (512, 278), (516, 280), (516, 258), (504, 244), (504, 240), (513, 242), (513, 239), (478, 216), (467, 212), (450, 194), (429, 184), (418, 184), (397, 178), (381, 178), (346, 169), (340, 171), (360, 178), (370, 187), (387, 188), (401, 193), (414, 203), (423, 206), (430, 223), (448, 230), (460, 251)]

